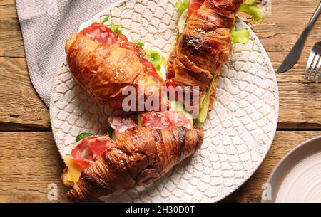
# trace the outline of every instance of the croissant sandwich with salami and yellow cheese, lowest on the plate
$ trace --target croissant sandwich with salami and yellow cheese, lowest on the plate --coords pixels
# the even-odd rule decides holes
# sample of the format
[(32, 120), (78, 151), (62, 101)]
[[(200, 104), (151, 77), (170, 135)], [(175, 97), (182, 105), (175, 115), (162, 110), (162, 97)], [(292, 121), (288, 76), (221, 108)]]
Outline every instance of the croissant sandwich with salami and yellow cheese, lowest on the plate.
[(117, 189), (149, 184), (194, 154), (203, 132), (180, 112), (149, 112), (109, 117), (116, 141), (90, 136), (76, 143), (65, 162), (63, 184), (70, 201), (93, 201)]

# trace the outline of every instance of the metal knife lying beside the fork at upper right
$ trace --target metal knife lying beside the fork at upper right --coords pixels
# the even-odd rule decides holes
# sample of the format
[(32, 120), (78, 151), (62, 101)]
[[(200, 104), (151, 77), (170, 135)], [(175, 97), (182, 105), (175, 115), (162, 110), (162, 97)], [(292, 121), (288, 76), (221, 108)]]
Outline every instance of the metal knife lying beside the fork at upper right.
[(290, 53), (287, 54), (287, 57), (285, 60), (283, 60), (280, 67), (277, 69), (277, 73), (284, 73), (297, 63), (297, 60), (299, 60), (300, 55), (303, 50), (303, 46), (305, 44), (305, 39), (307, 38), (307, 33), (309, 33), (310, 29), (312, 28), (313, 24), (317, 20), (317, 16), (319, 16), (321, 11), (321, 1), (319, 3), (319, 6), (317, 6), (317, 9), (315, 10), (315, 14), (313, 14), (312, 18), (310, 19), (309, 23), (307, 23), (307, 26), (305, 27), (305, 30), (301, 33), (301, 36), (299, 39), (297, 39), (297, 42), (292, 47)]

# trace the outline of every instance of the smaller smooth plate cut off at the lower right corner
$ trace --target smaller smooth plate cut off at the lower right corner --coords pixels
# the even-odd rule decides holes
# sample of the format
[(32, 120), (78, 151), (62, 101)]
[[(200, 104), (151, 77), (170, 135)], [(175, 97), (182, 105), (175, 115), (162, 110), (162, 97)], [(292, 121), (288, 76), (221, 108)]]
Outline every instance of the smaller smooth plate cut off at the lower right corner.
[(270, 198), (263, 200), (265, 203), (320, 203), (321, 136), (292, 149), (275, 166), (267, 183)]

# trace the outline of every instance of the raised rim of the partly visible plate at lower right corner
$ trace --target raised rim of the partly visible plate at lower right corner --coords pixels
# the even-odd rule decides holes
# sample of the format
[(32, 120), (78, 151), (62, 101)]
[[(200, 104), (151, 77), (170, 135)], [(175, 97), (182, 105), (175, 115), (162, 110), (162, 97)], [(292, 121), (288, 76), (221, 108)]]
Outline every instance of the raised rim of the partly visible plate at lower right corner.
[[(290, 173), (290, 171), (300, 162), (302, 162), (304, 159), (307, 159), (307, 157), (312, 156), (312, 154), (316, 154), (317, 152), (321, 151), (321, 147), (320, 150), (318, 150), (317, 152), (313, 152), (313, 151), (307, 151), (307, 153), (303, 153), (302, 157), (300, 157), (300, 159), (295, 160), (294, 162), (292, 162), (291, 166), (283, 166), (283, 164), (285, 164), (285, 161), (289, 158), (292, 157), (293, 154), (296, 154), (297, 152), (300, 152), (301, 149), (307, 149), (306, 146), (308, 146), (310, 143), (315, 142), (316, 140), (320, 140), (321, 141), (321, 136), (317, 136), (317, 137), (313, 137), (312, 139), (307, 139), (305, 142), (302, 142), (301, 144), (297, 145), (295, 148), (291, 149), (290, 152), (287, 152), (287, 154), (285, 154), (284, 157), (282, 157), (282, 159), (280, 159), (280, 162), (278, 162), (276, 164), (276, 166), (274, 167), (274, 169), (272, 170), (269, 178), (267, 179), (267, 183), (270, 184), (272, 182), (273, 179), (275, 179), (275, 175), (277, 173), (277, 171), (279, 171), (280, 169), (282, 169), (284, 171), (284, 169), (282, 167), (285, 167), (285, 169), (287, 170), (286, 174), (283, 174), (283, 176), (280, 178), (282, 179), (282, 181), (284, 181), (285, 177), (287, 176), (287, 174)], [(282, 184), (282, 181), (277, 181), (277, 187), (272, 191), (275, 195), (275, 197), (277, 196), (277, 192), (280, 189), (280, 186)], [(262, 203), (275, 203), (275, 198), (274, 196), (272, 197), (272, 200), (268, 201), (268, 200), (263, 200), (262, 199)]]

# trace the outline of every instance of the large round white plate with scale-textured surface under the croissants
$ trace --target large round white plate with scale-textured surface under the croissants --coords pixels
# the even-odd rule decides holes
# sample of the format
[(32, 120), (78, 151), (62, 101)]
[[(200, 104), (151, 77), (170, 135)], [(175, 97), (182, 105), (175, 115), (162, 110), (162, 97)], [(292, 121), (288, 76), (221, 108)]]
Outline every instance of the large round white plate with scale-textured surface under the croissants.
[[(109, 14), (133, 40), (166, 56), (176, 37), (176, 0), (120, 1), (81, 27)], [(214, 110), (203, 129), (205, 141), (190, 159), (149, 186), (118, 191), (106, 201), (213, 202), (242, 185), (270, 149), (278, 117), (278, 91), (270, 59), (253, 31), (237, 44), (218, 83)], [(73, 80), (66, 55), (56, 75), (50, 105), (51, 125), (61, 156), (70, 154), (80, 132), (103, 134), (112, 112), (99, 107)]]

